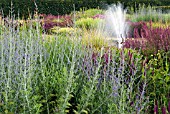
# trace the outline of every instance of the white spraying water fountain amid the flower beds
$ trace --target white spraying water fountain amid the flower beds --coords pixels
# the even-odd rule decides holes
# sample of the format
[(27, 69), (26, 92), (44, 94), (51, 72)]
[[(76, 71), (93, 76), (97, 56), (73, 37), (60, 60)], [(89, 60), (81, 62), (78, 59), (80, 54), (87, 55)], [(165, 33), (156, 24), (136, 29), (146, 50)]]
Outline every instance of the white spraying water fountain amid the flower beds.
[(126, 10), (122, 5), (109, 6), (105, 12), (104, 33), (109, 37), (109, 41), (117, 43), (117, 47), (122, 47), (122, 42), (126, 38), (128, 24), (126, 23)]

